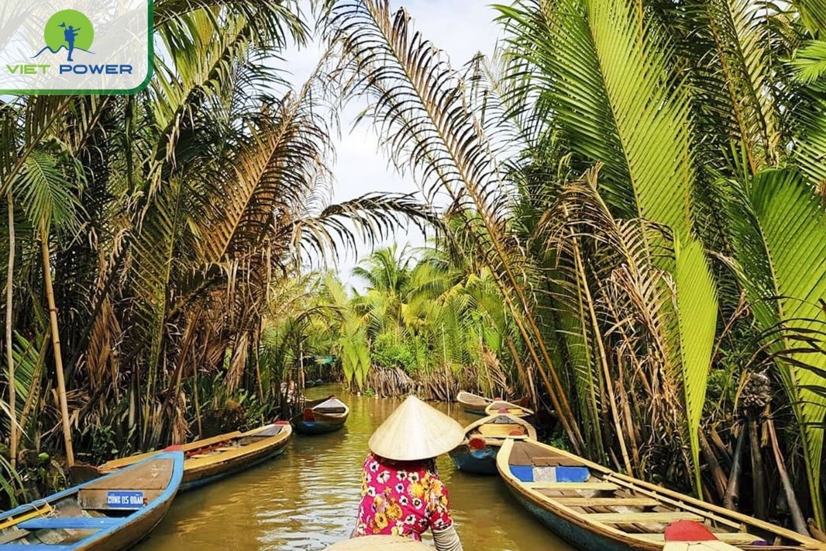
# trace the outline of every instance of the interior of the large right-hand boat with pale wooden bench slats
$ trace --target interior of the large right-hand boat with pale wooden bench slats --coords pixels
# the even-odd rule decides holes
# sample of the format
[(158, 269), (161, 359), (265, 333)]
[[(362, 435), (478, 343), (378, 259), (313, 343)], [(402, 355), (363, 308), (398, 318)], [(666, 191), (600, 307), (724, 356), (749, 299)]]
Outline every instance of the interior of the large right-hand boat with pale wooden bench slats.
[(550, 509), (570, 519), (619, 530), (642, 542), (663, 544), (668, 525), (693, 521), (714, 537), (738, 549), (811, 549), (781, 534), (747, 525), (679, 494), (659, 492), (620, 473), (598, 469), (569, 454), (531, 442), (514, 441), (508, 458), (510, 473), (525, 489), (538, 494)]

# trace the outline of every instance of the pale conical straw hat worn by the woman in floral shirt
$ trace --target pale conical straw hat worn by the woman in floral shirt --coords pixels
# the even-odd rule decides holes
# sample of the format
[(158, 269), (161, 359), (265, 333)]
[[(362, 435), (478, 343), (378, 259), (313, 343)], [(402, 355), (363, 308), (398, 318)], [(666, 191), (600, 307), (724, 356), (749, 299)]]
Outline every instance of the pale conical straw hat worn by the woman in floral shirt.
[(463, 439), (462, 425), (411, 396), (373, 433), (370, 449), (382, 458), (418, 461), (446, 454)]

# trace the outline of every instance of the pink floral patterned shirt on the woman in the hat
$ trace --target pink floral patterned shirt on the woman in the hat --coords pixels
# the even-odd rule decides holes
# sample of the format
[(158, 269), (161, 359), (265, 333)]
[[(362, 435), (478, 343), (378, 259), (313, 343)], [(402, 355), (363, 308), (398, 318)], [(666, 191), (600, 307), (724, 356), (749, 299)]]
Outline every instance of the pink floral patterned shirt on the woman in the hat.
[(368, 455), (354, 536), (395, 535), (421, 541), (429, 528), (451, 525), (448, 490), (433, 461), (396, 462)]

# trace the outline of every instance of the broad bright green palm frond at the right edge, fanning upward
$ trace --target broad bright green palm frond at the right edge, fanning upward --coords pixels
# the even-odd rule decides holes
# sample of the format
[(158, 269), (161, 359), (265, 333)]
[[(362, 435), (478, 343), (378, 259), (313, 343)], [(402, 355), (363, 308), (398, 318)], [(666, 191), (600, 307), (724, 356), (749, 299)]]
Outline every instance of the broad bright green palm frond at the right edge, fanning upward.
[[(743, 280), (763, 330), (820, 330), (826, 313), (826, 208), (794, 170), (771, 169), (753, 178), (747, 197), (733, 207), (734, 240)], [(786, 349), (792, 346), (786, 345)], [(826, 354), (790, 354), (779, 363), (781, 380), (800, 423), (814, 509), (822, 515)], [(806, 369), (810, 364), (820, 371)]]

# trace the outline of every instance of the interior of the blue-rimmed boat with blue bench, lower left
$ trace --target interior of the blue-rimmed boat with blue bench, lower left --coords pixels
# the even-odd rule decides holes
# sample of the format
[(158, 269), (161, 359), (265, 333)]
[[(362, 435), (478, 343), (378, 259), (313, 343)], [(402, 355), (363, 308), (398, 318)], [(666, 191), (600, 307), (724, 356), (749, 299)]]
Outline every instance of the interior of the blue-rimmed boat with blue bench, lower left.
[(4, 551), (64, 551), (127, 521), (156, 501), (173, 475), (172, 458), (149, 460), (0, 518)]

